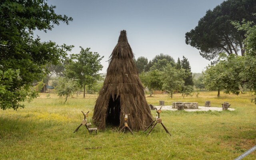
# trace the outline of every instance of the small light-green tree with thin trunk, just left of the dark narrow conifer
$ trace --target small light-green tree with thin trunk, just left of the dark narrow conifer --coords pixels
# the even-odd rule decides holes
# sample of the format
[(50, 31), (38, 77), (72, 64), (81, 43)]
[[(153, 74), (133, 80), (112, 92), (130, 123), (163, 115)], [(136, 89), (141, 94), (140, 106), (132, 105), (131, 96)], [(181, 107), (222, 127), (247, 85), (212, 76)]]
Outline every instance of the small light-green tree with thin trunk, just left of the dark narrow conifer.
[(170, 96), (172, 98), (174, 91), (179, 90), (181, 86), (184, 86), (183, 78), (185, 76), (186, 72), (184, 69), (177, 70), (170, 64), (167, 64), (164, 69), (164, 74), (162, 74), (162, 89), (170, 92)]

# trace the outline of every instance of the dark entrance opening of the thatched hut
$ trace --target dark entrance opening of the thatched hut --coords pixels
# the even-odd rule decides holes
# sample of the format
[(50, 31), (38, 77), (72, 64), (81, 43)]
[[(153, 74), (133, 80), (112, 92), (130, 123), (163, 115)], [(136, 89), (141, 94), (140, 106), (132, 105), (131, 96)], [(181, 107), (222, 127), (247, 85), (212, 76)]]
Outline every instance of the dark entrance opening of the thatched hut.
[(108, 102), (108, 111), (107, 111), (107, 124), (113, 125), (113, 126), (119, 126), (120, 125), (120, 112), (121, 112), (121, 106), (120, 106), (120, 96), (116, 98), (116, 95), (114, 98), (110, 96), (109, 102)]

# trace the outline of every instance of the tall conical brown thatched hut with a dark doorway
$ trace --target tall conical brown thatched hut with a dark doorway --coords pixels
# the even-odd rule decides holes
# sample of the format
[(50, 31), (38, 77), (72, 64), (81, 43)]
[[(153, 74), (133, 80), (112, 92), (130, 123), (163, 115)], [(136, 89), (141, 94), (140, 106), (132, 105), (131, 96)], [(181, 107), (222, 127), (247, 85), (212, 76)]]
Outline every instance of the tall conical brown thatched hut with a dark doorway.
[(92, 119), (99, 129), (105, 129), (107, 124), (124, 126), (124, 113), (130, 114), (128, 125), (132, 130), (144, 130), (152, 122), (133, 58), (126, 31), (122, 30), (94, 107)]

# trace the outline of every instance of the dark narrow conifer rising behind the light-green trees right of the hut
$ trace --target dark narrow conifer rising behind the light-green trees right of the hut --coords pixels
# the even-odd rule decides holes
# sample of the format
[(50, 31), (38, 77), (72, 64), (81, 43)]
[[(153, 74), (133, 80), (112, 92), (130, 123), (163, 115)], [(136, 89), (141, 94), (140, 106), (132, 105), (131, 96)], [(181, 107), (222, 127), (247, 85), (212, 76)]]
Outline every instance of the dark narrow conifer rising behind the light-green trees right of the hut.
[(184, 79), (183, 79), (184, 80), (184, 85), (185, 86), (194, 86), (194, 82), (193, 82), (193, 78), (192, 78), (192, 72), (191, 72), (191, 67), (190, 67), (190, 64), (188, 62), (188, 58), (185, 58), (183, 56), (183, 59), (180, 62), (180, 66), (187, 73), (187, 76), (185, 76)]

